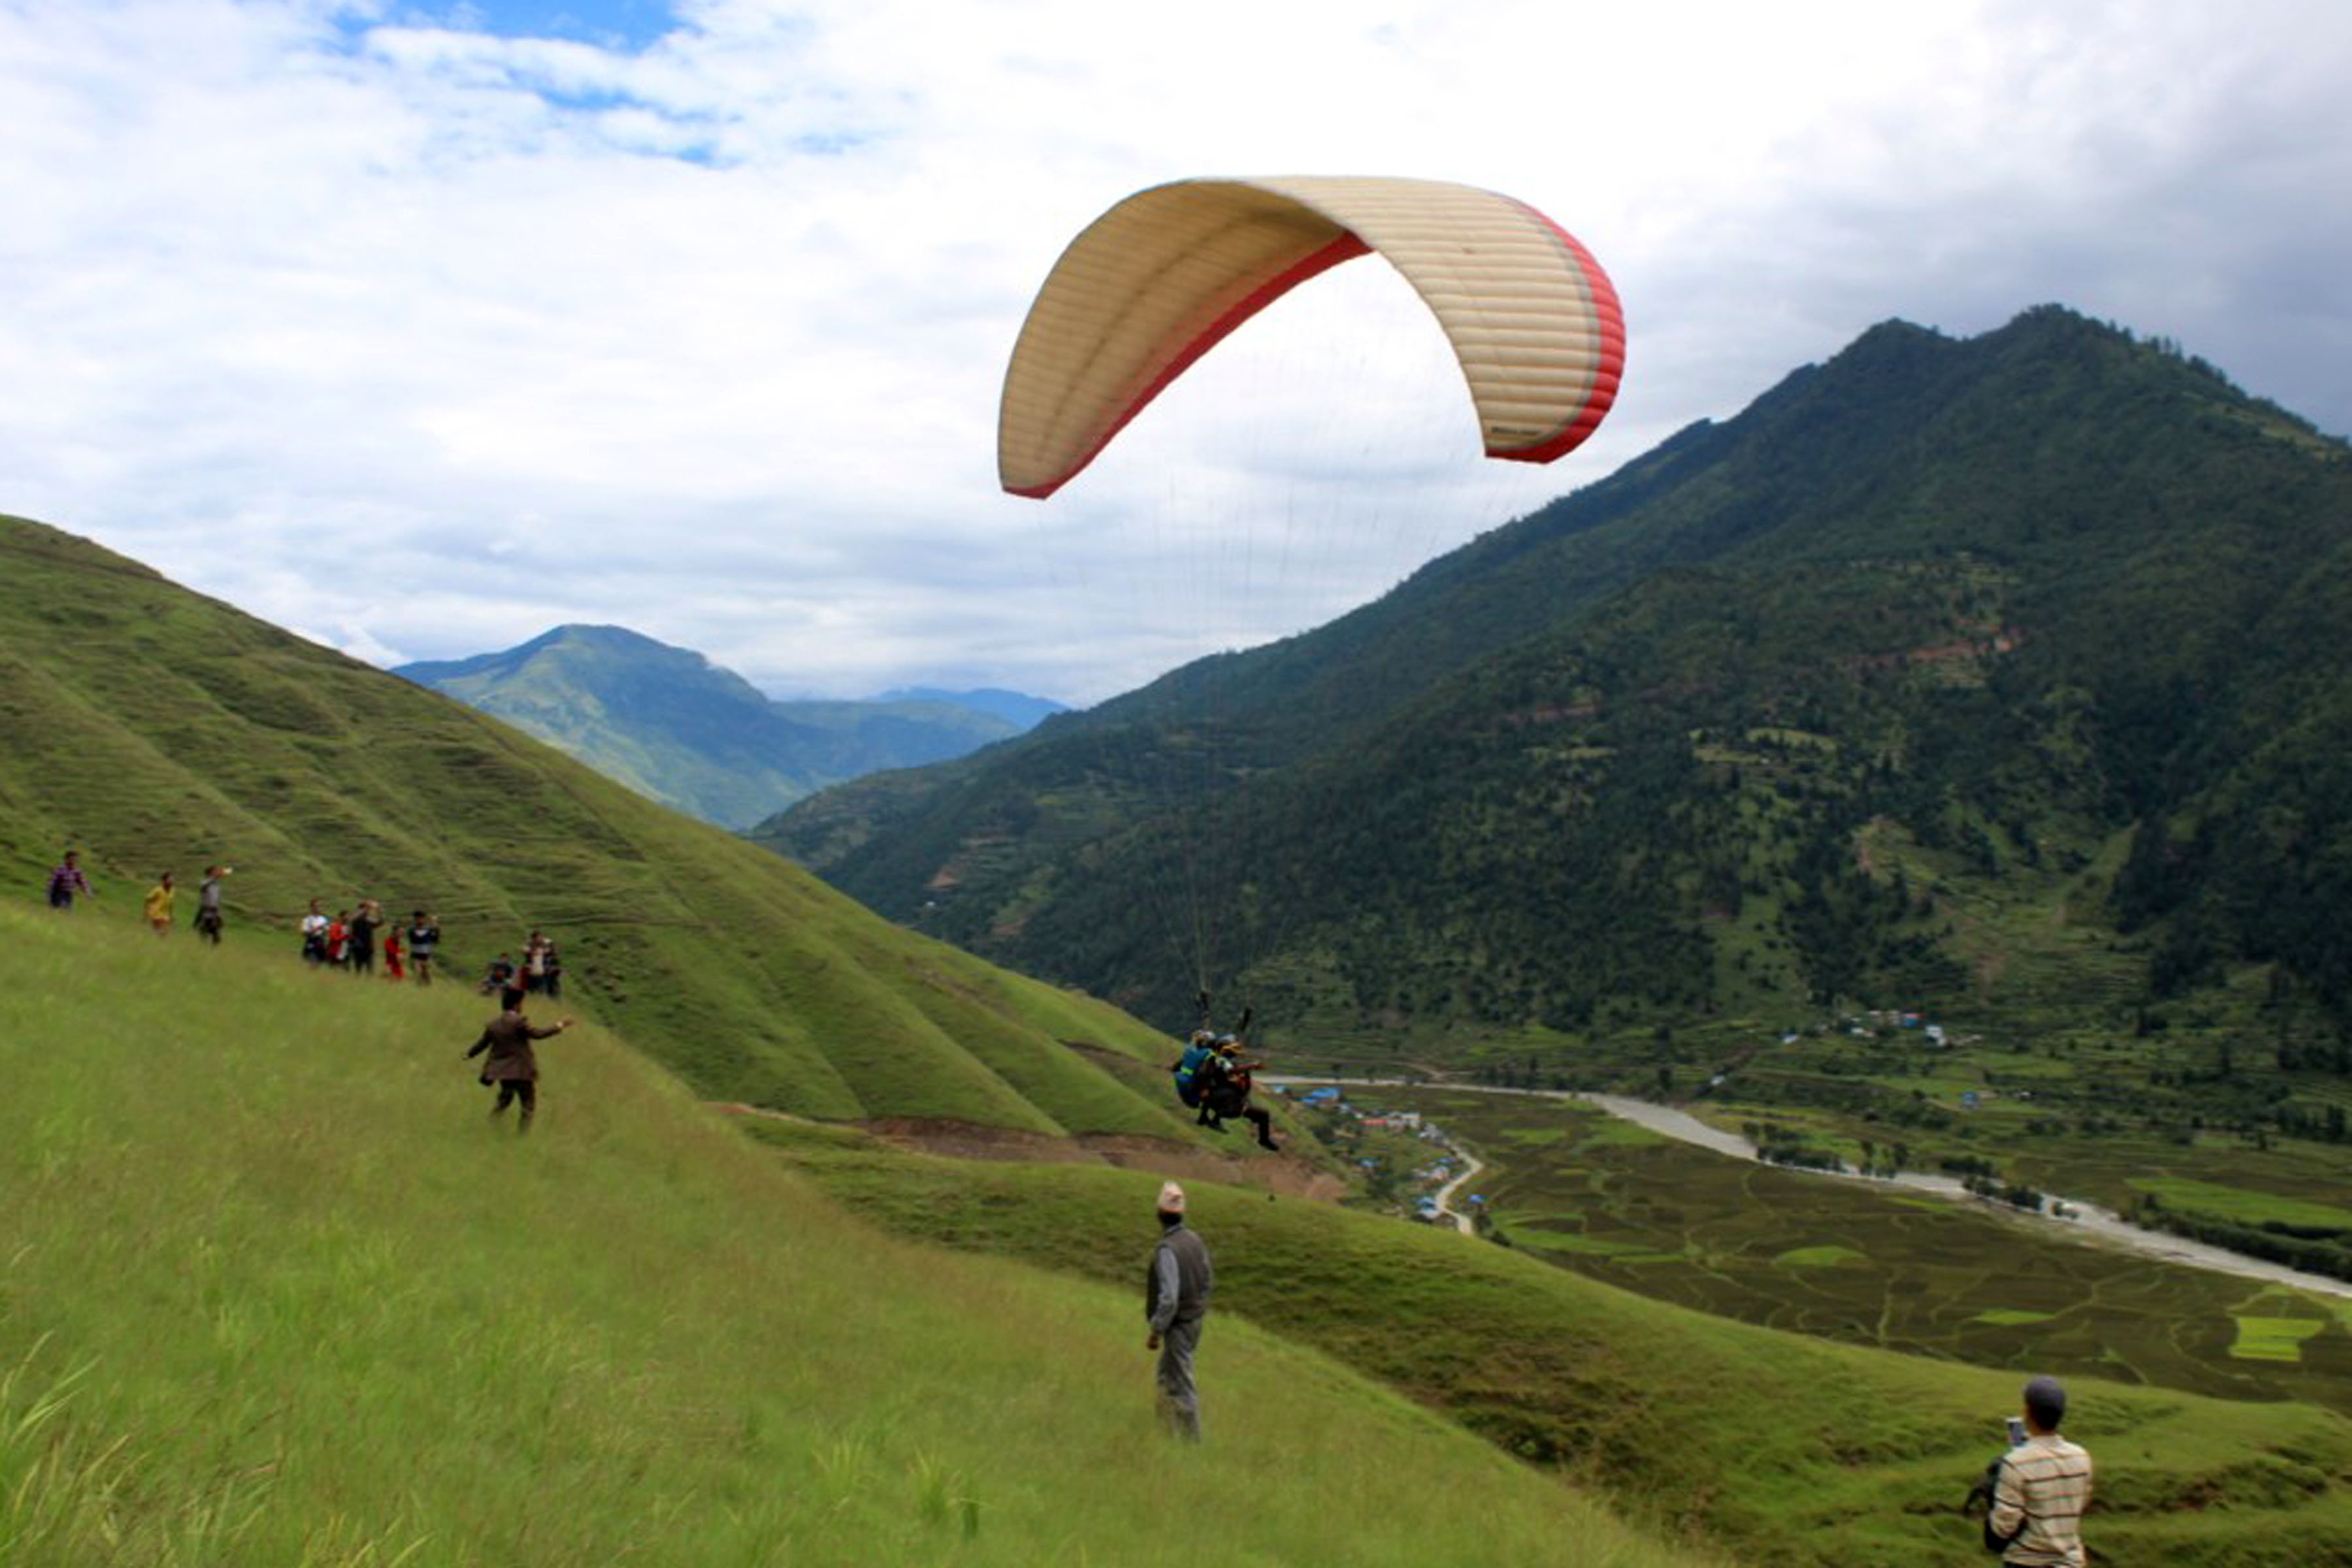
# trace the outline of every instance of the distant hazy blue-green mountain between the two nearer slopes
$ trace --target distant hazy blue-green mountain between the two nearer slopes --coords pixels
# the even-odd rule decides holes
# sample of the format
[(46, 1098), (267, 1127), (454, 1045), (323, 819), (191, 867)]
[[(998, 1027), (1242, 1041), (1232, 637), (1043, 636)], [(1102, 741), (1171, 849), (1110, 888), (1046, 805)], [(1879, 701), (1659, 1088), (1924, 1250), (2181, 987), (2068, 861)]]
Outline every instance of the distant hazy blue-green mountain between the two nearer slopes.
[(557, 625), (501, 654), (393, 675), (722, 827), (757, 823), (828, 783), (962, 757), (1056, 708), (1011, 691), (774, 701), (691, 649), (619, 625)]

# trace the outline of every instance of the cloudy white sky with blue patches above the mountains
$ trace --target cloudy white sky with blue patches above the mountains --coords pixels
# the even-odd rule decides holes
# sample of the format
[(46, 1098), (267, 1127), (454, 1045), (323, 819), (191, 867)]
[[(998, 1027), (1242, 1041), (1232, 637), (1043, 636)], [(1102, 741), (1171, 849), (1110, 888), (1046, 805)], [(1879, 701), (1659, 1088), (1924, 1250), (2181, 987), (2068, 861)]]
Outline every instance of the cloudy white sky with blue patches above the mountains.
[[(1094, 701), (1886, 317), (2060, 301), (2347, 433), (2347, 101), (2336, 0), (0, 0), (0, 510), (379, 663), (604, 621)], [(1035, 287), (1197, 174), (1545, 209), (1616, 411), (1479, 461), (1359, 261), (997, 494)]]

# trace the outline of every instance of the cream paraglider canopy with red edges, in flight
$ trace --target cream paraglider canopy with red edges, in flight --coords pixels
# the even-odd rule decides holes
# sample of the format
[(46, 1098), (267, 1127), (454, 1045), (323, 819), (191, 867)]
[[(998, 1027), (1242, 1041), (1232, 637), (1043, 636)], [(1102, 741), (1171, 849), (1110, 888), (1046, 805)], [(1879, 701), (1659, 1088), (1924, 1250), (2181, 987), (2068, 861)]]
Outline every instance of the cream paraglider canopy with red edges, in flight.
[(1192, 179), (1096, 219), (1037, 292), (997, 411), (997, 477), (1051, 496), (1251, 315), (1378, 252), (1461, 362), (1486, 456), (1550, 463), (1616, 400), (1609, 275), (1524, 202), (1423, 179)]

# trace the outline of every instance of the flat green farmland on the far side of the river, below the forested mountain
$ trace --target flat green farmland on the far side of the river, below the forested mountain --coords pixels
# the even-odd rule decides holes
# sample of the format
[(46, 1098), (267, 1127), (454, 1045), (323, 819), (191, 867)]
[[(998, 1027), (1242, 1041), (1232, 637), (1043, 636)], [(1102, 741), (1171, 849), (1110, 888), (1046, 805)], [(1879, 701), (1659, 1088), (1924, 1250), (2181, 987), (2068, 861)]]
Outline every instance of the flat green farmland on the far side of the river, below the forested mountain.
[[(2037, 931), (2027, 905), (2004, 919)], [(2032, 961), (2060, 985), (2065, 964), (2046, 952)], [(2258, 978), (2239, 973), (2234, 1001), (2183, 1009), (2145, 1032), (2131, 1009), (2112, 1030), (2032, 1027), (2016, 1013), (1947, 1020), (1947, 1046), (1889, 1016), (1745, 1018), (1585, 1039), (1494, 1034), (1432, 1044), (1425, 1058), (1470, 1063), (1463, 1077), (1494, 1086), (1663, 1100), (1731, 1133), (1773, 1126), (1856, 1168), (1983, 1164), (2004, 1182), (2119, 1213), (2161, 1206), (2216, 1225), (2352, 1237), (2352, 1140), (2328, 1131), (2331, 1114), (2352, 1112), (2352, 1091), (2338, 1074), (2274, 1065), (2310, 1018), (2284, 1004), (2265, 1016)], [(2279, 1114), (2300, 1117), (2305, 1133), (2279, 1131)]]

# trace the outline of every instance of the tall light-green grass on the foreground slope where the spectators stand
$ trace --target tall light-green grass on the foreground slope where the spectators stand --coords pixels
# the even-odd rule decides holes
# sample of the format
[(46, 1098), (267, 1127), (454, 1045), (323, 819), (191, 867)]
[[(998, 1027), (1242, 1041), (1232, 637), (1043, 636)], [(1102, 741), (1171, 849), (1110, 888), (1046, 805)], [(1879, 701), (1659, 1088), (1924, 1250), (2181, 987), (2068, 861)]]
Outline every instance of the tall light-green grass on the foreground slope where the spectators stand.
[[(891, 1241), (593, 1027), (0, 907), (0, 1563), (1571, 1563), (1689, 1552), (1235, 1319)], [(1136, 1267), (1150, 1215), (1134, 1215)]]

